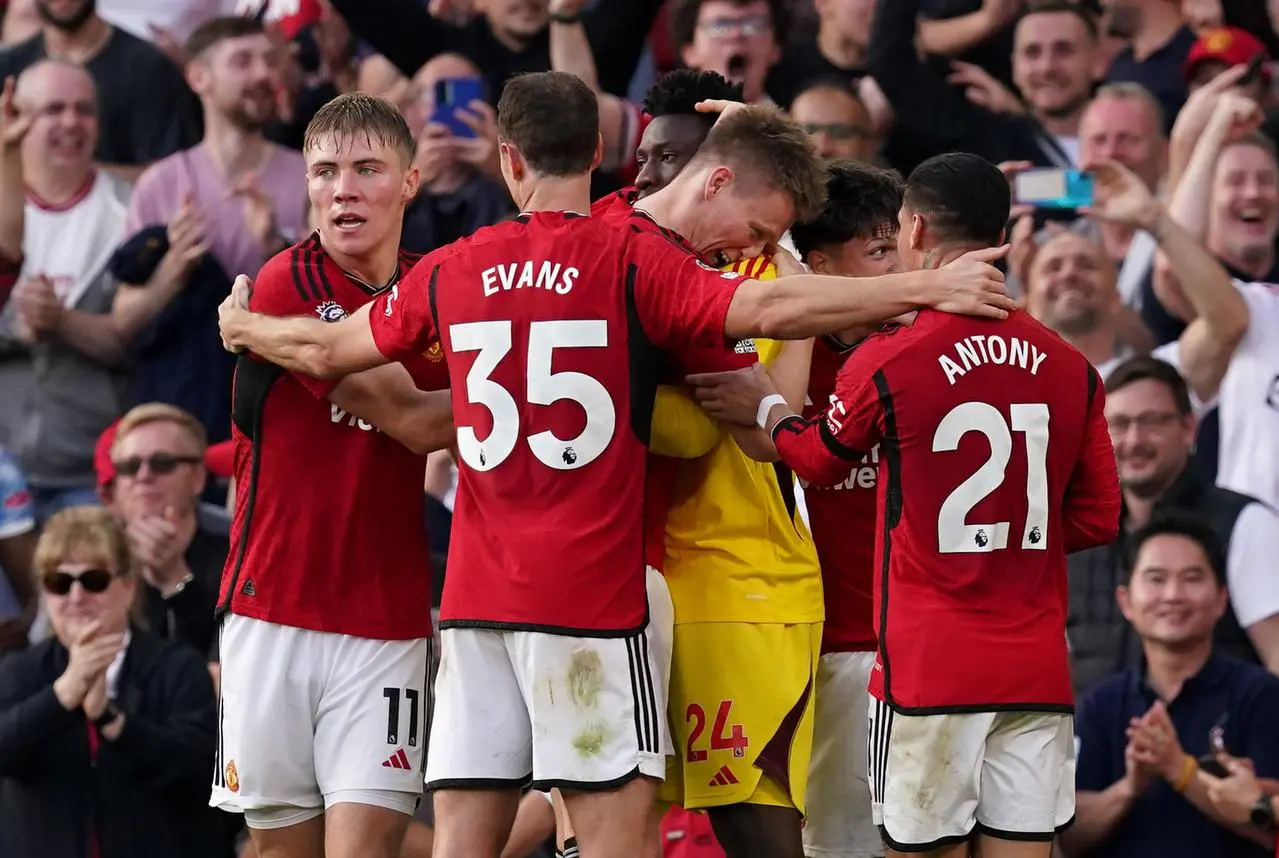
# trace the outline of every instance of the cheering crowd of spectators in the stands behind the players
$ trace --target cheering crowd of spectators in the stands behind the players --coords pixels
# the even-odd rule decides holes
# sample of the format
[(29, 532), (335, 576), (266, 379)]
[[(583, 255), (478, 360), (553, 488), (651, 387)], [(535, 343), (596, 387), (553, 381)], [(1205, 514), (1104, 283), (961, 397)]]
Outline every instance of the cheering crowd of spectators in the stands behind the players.
[[(17, 86), (0, 124), (0, 650), (49, 633), (33, 574), (41, 524), (67, 506), (104, 504), (142, 561), (150, 628), (207, 657), (216, 679), (234, 366), (216, 308), (234, 275), (255, 274), (306, 235), (301, 132), (329, 98), (385, 96), (420, 134), (422, 192), (404, 244), (427, 252), (514, 214), (490, 106), (509, 75), (556, 68), (597, 90), (602, 194), (637, 173), (656, 78), (714, 70), (739, 82), (747, 101), (789, 110), (828, 157), (903, 174), (946, 151), (980, 153), (1009, 174), (1119, 161), (1236, 279), (1237, 295), (1202, 302), (1145, 233), (1074, 212), (1019, 211), (1010, 224), (1010, 288), (1108, 378), (1126, 500), (1119, 541), (1071, 559), (1068, 632), (1082, 701), (1078, 789), (1104, 793), (1128, 779), (1140, 799), (1118, 827), (1088, 818), (1095, 806), (1081, 800), (1077, 839), (1062, 845), (1202, 855), (1178, 852), (1178, 836), (1216, 826), (1218, 854), (1264, 854), (1173, 789), (1175, 765), (1168, 777), (1126, 770), (1127, 724), (1115, 714), (1126, 696), (1159, 696), (1140, 670), (1124, 674), (1131, 682), (1117, 675), (1169, 643), (1168, 611), (1182, 618), (1175, 646), (1210, 638), (1215, 651), (1279, 673), (1279, 288), (1255, 285), (1279, 281), (1279, 66), (1270, 59), (1279, 56), (1279, 3), (1081, 0), (1082, 14), (1068, 0), (3, 5), (0, 77)], [(581, 15), (581, 27), (549, 29), (553, 13)], [(224, 15), (263, 20), (270, 38)], [(435, 83), (459, 77), (485, 82), (483, 100), (459, 119), (472, 136), (428, 121)], [(1188, 326), (1196, 318), (1205, 324)], [(336, 408), (333, 418), (354, 419)], [(453, 485), (448, 454), (432, 454), (423, 491), (434, 499), (425, 524), (437, 591)], [(1229, 591), (1220, 620), (1211, 587), (1186, 584), (1150, 604), (1115, 598), (1126, 534), (1174, 506), (1220, 543)], [(1261, 777), (1279, 777), (1279, 679), (1238, 688), (1205, 667), (1196, 680), (1169, 706), (1179, 745), (1200, 753), (1209, 730), (1227, 725), (1230, 751)], [(214, 706), (152, 702), (165, 724)], [(84, 854), (83, 843), (55, 832), (92, 812), (84, 797), (101, 784), (87, 785), (90, 761), (55, 754), (38, 790), (19, 788), (29, 772), (14, 762), (15, 743), (36, 738), (5, 733), (13, 729), (0, 710), (0, 855), (19, 815), (50, 832), (41, 855)], [(151, 761), (143, 776), (93, 775), (111, 779), (110, 812), (129, 820), (120, 831), (132, 850), (114, 854), (247, 849), (238, 826), (205, 807), (205, 745), (165, 751), (168, 762)], [(226, 830), (148, 841), (156, 813), (189, 817), (193, 832), (206, 831), (205, 817)], [(549, 815), (547, 806), (526, 820), (530, 844), (550, 834)], [(671, 816), (665, 835), (666, 854), (720, 854), (696, 817)], [(427, 854), (423, 815), (404, 855)]]

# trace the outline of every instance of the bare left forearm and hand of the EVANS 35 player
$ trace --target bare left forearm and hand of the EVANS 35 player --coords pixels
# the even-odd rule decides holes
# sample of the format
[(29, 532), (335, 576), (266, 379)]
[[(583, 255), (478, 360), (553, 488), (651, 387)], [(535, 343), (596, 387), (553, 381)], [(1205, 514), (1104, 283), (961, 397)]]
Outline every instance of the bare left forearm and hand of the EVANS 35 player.
[(316, 378), (336, 378), (390, 363), (373, 341), (365, 304), (350, 316), (326, 322), (308, 316), (276, 317), (248, 308), (253, 281), (235, 277), (231, 294), (217, 307), (223, 348), (234, 354), (246, 350)]

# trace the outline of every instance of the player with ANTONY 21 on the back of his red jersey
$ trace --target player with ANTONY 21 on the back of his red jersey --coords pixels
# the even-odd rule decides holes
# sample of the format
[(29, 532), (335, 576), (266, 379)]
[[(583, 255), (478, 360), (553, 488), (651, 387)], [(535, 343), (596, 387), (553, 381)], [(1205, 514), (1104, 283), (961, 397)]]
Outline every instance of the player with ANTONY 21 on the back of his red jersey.
[[(1008, 207), (994, 165), (926, 161), (900, 210), (903, 265), (998, 243)], [(1096, 371), (1023, 312), (921, 311), (852, 353), (825, 416), (756, 382), (716, 410), (746, 422), (769, 403), (761, 423), (802, 478), (845, 480), (880, 448), (870, 783), (885, 840), (962, 855), (976, 829), (985, 858), (1046, 858), (1074, 815), (1065, 554), (1119, 527)]]

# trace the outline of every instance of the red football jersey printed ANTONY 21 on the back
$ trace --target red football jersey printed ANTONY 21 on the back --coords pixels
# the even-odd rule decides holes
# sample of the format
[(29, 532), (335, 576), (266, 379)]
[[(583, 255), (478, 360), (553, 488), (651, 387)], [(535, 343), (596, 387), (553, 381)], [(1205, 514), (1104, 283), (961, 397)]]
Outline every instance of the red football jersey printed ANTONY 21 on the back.
[(911, 715), (1073, 708), (1065, 555), (1119, 533), (1104, 405), (1027, 313), (922, 311), (849, 355), (825, 418), (774, 431), (811, 482), (880, 445), (872, 694)]

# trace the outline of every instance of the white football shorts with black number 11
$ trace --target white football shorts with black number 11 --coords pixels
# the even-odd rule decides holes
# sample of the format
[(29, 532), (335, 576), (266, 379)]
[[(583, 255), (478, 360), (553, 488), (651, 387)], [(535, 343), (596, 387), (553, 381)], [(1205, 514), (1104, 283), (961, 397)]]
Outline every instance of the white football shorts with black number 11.
[(340, 802), (412, 815), (431, 717), (431, 638), (373, 641), (229, 615), (210, 804), (281, 827)]

